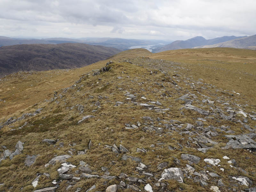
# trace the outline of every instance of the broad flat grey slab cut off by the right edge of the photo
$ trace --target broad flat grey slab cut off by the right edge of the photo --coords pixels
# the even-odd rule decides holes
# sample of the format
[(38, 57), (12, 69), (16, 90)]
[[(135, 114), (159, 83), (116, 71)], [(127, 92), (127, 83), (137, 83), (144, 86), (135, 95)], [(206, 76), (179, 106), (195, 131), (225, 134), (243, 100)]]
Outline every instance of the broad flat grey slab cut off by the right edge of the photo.
[(227, 137), (229, 141), (222, 149), (256, 148), (256, 142), (247, 135), (225, 135), (225, 137)]

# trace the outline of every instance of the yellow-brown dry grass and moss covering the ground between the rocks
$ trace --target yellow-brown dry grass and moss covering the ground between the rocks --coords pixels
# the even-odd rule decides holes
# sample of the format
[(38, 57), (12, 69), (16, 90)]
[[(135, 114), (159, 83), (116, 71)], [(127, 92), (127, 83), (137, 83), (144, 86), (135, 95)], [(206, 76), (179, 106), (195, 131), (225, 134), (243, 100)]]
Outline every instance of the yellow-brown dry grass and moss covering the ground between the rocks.
[[(152, 60), (152, 63), (148, 63), (148, 58), (142, 56), (160, 60)], [(124, 59), (131, 61), (133, 64), (123, 62)], [(163, 61), (162, 64), (161, 59), (179, 63), (169, 65), (168, 62)], [(0, 163), (0, 183), (4, 182), (4, 186), (0, 186), (0, 191), (28, 192), (54, 186), (51, 183), (52, 180), (60, 180), (59, 174), (56, 171), (60, 167), (60, 163), (48, 167), (44, 167), (44, 164), (48, 163), (55, 155), (68, 154), (71, 148), (75, 149), (75, 152), (67, 162), (77, 166), (70, 170), (70, 174), (74, 174), (76, 177), (80, 175), (75, 174), (75, 171), (78, 170), (79, 161), (84, 161), (93, 170), (91, 174), (103, 175), (104, 172), (101, 171), (101, 166), (105, 166), (108, 167), (108, 171), (112, 176), (117, 176), (124, 172), (131, 177), (144, 178), (147, 179), (147, 183), (151, 184), (153, 191), (159, 191), (160, 188), (154, 184), (158, 183), (157, 180), (160, 178), (163, 170), (158, 170), (156, 168), (157, 165), (167, 162), (168, 168), (180, 167), (183, 169), (186, 167), (187, 161), (182, 160), (180, 156), (182, 153), (187, 153), (201, 158), (199, 164), (192, 165), (197, 172), (207, 170), (221, 176), (223, 183), (226, 185), (226, 187), (220, 187), (221, 191), (230, 191), (232, 188), (241, 191), (248, 188), (239, 185), (235, 181), (230, 183), (229, 175), (238, 176), (244, 174), (231, 168), (227, 161), (222, 159), (222, 156), (236, 159), (237, 165), (250, 173), (246, 176), (256, 183), (256, 176), (253, 174), (256, 172), (255, 152), (250, 153), (246, 149), (222, 150), (221, 147), (224, 147), (228, 142), (223, 137), (226, 134), (225, 132), (218, 131), (219, 135), (212, 138), (218, 144), (214, 145), (206, 153), (202, 153), (196, 150), (198, 147), (195, 143), (190, 142), (191, 146), (188, 146), (188, 134), (179, 134), (182, 129), (186, 128), (185, 125), (185, 127), (181, 125), (182, 128), (177, 128), (177, 131), (173, 131), (165, 129), (164, 122), (162, 121), (175, 119), (181, 122), (179, 124), (191, 123), (195, 125), (197, 117), (204, 118), (204, 116), (195, 111), (182, 110), (183, 113), (180, 113), (180, 108), (184, 107), (184, 102), (176, 99), (188, 92), (197, 96), (197, 99), (193, 101), (193, 105), (205, 110), (209, 110), (212, 105), (202, 105), (201, 101), (205, 99), (203, 95), (211, 97), (211, 100), (214, 100), (215, 104), (223, 110), (225, 110), (225, 106), (222, 106), (217, 100), (228, 101), (232, 107), (236, 106), (235, 103), (239, 103), (242, 106), (241, 108), (244, 108), (248, 113), (256, 111), (254, 96), (256, 51), (213, 48), (175, 50), (150, 54), (150, 52), (144, 49), (136, 49), (119, 53), (109, 60), (115, 61), (115, 63), (110, 65), (112, 69), (98, 76), (92, 76), (92, 69), (102, 68), (108, 60), (79, 69), (14, 74), (0, 81), (0, 99), (5, 100), (5, 102), (0, 101), (0, 122), (6, 121), (11, 116), (19, 117), (23, 113), (43, 108), (40, 114), (10, 124), (13, 127), (4, 126), (1, 129), (0, 143), (2, 146), (6, 146), (7, 149), (13, 151), (15, 144), (20, 140), (24, 142), (24, 150), (21, 155), (15, 156), (12, 160), (6, 159)], [(161, 66), (170, 76), (159, 72), (158, 69)], [(76, 83), (82, 76), (81, 82)], [(122, 78), (117, 78), (119, 76)], [(172, 84), (170, 77), (177, 82), (178, 86)], [(188, 80), (188, 77), (190, 80)], [(203, 84), (195, 83), (195, 88), (192, 89), (190, 83), (198, 82), (198, 78), (204, 79)], [(190, 83), (187, 83), (188, 81)], [(76, 86), (68, 89), (66, 93), (62, 92), (62, 88), (73, 84), (76, 84)], [(206, 87), (206, 89), (202, 89), (202, 86)], [(234, 90), (241, 95), (235, 94), (231, 97), (216, 92), (216, 89), (229, 90), (227, 91), (229, 93), (232, 93), (232, 90)], [(53, 97), (53, 91), (57, 91), (58, 95), (61, 94), (62, 97), (58, 96), (56, 100), (50, 101)], [(124, 96), (126, 91), (134, 94), (137, 98), (127, 100), (127, 97)], [(198, 92), (202, 95), (198, 94)], [(161, 97), (161, 95), (165, 94), (166, 96)], [(147, 99), (142, 99), (142, 96)], [(45, 101), (45, 99), (48, 101)], [(100, 108), (95, 106), (97, 101), (100, 102)], [(124, 102), (124, 104), (114, 107), (116, 101)], [(159, 101), (162, 105), (156, 107), (162, 109), (170, 108), (170, 110), (164, 111), (165, 113), (157, 113), (155, 110), (148, 110), (148, 108), (135, 103), (146, 103), (149, 101)], [(35, 103), (37, 104), (34, 105)], [(73, 110), (67, 109), (67, 107), (76, 106), (76, 104), (84, 106), (83, 114), (79, 114), (77, 107), (74, 107)], [(95, 109), (97, 111), (92, 112)], [(78, 125), (77, 122), (86, 115), (93, 115), (95, 118), (90, 118)], [(142, 116), (152, 117), (154, 119), (153, 124), (143, 120)], [(157, 121), (157, 117), (161, 120)], [(249, 133), (245, 129), (242, 131), (241, 125), (238, 123), (218, 119), (213, 115), (212, 117), (214, 118), (207, 119), (204, 122), (204, 127), (209, 125), (215, 127), (229, 125), (230, 129), (235, 131), (236, 134)], [(242, 116), (236, 116), (236, 118), (243, 121)], [(141, 127), (154, 125), (156, 127), (163, 127), (164, 131), (162, 133), (148, 132), (144, 131), (141, 127), (135, 130), (125, 129), (125, 123), (132, 125), (138, 121), (142, 124)], [(28, 122), (27, 126), (17, 129), (25, 122)], [(251, 127), (256, 126), (255, 122), (248, 119), (248, 124)], [(11, 129), (17, 130), (10, 131)], [(58, 139), (58, 141), (56, 146), (54, 146), (43, 143), (43, 139)], [(76, 155), (77, 151), (88, 148), (90, 140), (92, 141), (92, 148), (88, 149), (84, 155)], [(58, 148), (60, 142), (64, 143), (63, 148)], [(70, 146), (73, 143), (76, 143), (76, 145)], [(104, 148), (104, 145), (113, 146), (113, 144), (117, 146), (122, 144), (130, 151), (127, 155), (140, 157), (142, 163), (148, 166), (148, 169), (145, 171), (153, 173), (157, 179), (154, 177), (148, 179), (141, 172), (136, 171), (135, 168), (138, 166), (138, 163), (131, 160), (123, 161), (121, 160), (123, 154), (117, 156), (112, 150)], [(156, 147), (150, 147), (151, 144), (154, 144)], [(180, 148), (179, 144), (183, 148)], [(207, 145), (212, 146), (210, 143), (207, 143)], [(176, 149), (169, 150), (168, 146)], [(137, 153), (137, 148), (145, 148), (148, 152), (145, 154)], [(37, 154), (40, 156), (37, 157), (31, 167), (24, 165), (26, 155)], [(174, 163), (174, 157), (181, 161), (179, 165)], [(245, 157), (248, 158), (245, 160)], [(217, 166), (205, 169), (206, 163), (203, 161), (204, 158), (219, 158), (221, 160), (221, 167), (225, 169), (225, 172), (220, 171)], [(40, 177), (38, 185), (34, 188), (31, 182), (36, 178), (36, 173), (49, 173), (50, 177)], [(207, 181), (208, 186), (205, 188), (189, 178), (185, 178), (184, 183), (178, 183), (175, 180), (165, 180), (164, 183), (169, 184), (166, 187), (166, 191), (190, 192), (210, 191), (209, 188), (212, 185), (217, 186), (217, 181), (218, 179), (210, 178)], [(113, 180), (82, 178), (68, 191), (73, 192), (79, 187), (85, 192), (94, 184), (96, 189), (92, 190), (92, 192), (105, 191), (107, 186), (119, 183), (119, 178)], [(231, 184), (238, 185), (237, 187), (232, 186), (229, 189), (228, 187)], [(67, 186), (67, 180), (63, 180), (60, 182), (60, 187), (56, 192), (66, 191)], [(144, 191), (144, 184), (137, 184), (137, 186), (140, 190)], [(132, 190), (118, 189), (118, 191)]]

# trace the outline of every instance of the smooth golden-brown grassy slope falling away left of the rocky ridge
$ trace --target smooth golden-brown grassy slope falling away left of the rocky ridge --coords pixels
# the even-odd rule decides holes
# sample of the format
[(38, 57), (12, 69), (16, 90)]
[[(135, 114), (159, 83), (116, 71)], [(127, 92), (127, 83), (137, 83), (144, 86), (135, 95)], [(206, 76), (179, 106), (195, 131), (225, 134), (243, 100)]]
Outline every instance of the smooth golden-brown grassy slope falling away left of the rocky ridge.
[[(134, 49), (117, 54), (109, 60), (119, 61), (124, 58), (148, 55), (150, 52), (146, 49)], [(68, 70), (51, 70), (16, 73), (3, 78), (0, 81), (0, 121), (16, 116), (16, 112), (24, 111), (26, 108), (50, 99), (53, 91), (66, 88), (74, 84), (80, 76), (85, 73), (103, 67), (108, 60), (99, 61), (84, 68)], [(33, 85), (33, 86), (31, 86)]]

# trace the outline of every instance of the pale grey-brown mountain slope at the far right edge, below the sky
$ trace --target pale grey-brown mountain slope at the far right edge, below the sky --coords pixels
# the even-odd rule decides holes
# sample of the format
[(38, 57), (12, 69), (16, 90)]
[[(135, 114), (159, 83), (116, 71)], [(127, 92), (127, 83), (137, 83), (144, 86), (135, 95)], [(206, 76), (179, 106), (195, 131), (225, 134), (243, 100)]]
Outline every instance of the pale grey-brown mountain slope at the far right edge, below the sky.
[(232, 47), (232, 48), (240, 48), (240, 49), (247, 49), (247, 48), (250, 49), (250, 46), (252, 46), (252, 49), (255, 49), (254, 47), (256, 46), (256, 35), (243, 37), (239, 39), (233, 39), (233, 40), (218, 43), (218, 44), (196, 46), (194, 48)]

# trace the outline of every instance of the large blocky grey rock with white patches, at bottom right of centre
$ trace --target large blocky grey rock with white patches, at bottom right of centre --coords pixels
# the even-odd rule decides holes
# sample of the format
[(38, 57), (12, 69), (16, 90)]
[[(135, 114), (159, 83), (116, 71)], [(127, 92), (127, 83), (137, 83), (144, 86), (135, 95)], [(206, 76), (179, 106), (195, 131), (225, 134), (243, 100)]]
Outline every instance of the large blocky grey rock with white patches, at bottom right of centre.
[(171, 167), (169, 169), (164, 169), (164, 172), (162, 172), (161, 176), (162, 178), (159, 181), (164, 179), (174, 179), (177, 180), (179, 183), (183, 183), (184, 180), (183, 172), (180, 168)]

